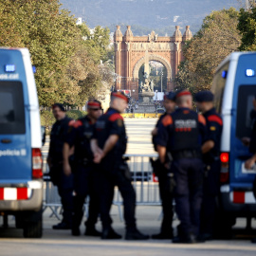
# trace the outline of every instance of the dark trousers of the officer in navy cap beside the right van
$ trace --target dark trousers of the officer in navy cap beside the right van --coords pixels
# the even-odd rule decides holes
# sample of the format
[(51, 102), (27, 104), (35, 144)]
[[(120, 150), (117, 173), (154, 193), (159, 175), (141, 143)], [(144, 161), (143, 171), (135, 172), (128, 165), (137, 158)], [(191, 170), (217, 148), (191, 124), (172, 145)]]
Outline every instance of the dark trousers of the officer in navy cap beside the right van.
[(213, 224), (216, 213), (216, 197), (220, 188), (220, 161), (213, 161), (207, 165), (204, 176), (203, 201), (201, 209), (202, 233), (213, 233)]

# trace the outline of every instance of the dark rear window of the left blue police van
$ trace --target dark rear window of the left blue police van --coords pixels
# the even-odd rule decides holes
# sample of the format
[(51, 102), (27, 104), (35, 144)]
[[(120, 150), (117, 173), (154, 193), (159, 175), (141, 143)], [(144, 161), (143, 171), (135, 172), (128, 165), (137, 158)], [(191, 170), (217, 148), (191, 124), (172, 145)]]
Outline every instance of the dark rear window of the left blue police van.
[(25, 134), (22, 82), (0, 81), (0, 134)]

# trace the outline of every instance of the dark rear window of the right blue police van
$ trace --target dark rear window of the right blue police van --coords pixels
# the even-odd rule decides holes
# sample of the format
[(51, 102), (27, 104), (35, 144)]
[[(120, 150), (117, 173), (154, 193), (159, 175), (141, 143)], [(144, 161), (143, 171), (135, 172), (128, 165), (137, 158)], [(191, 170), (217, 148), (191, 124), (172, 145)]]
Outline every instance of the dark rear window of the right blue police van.
[(238, 89), (236, 137), (250, 137), (252, 120), (250, 112), (253, 109), (253, 99), (256, 96), (255, 85), (240, 85)]

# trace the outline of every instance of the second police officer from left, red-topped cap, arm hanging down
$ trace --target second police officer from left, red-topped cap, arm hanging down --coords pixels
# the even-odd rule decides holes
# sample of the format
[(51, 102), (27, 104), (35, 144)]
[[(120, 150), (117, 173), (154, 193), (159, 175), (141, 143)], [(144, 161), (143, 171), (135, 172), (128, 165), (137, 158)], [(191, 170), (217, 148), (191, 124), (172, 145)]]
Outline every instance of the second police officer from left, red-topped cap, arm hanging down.
[(90, 140), (94, 131), (94, 124), (101, 116), (101, 102), (88, 101), (88, 115), (78, 119), (70, 126), (64, 142), (64, 173), (69, 176), (71, 168), (68, 161), (69, 149), (73, 146), (74, 165), (72, 172), (74, 174), (74, 212), (72, 222), (72, 235), (79, 236), (80, 225), (83, 215), (83, 204), (87, 195), (89, 201), (89, 217), (85, 222), (85, 235), (101, 236), (101, 232), (95, 229), (95, 225), (100, 213), (100, 197), (97, 191), (97, 172), (93, 164), (93, 154), (90, 148)]

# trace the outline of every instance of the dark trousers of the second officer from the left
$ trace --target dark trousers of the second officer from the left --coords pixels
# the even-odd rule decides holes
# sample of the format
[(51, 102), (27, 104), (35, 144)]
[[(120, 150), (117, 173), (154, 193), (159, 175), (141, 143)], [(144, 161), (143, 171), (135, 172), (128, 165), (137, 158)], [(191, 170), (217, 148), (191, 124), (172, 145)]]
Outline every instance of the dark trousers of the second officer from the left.
[(85, 222), (87, 228), (94, 228), (100, 213), (98, 172), (92, 166), (77, 165), (74, 169), (74, 213), (73, 228), (79, 228), (82, 222), (83, 205), (87, 196), (89, 216)]

